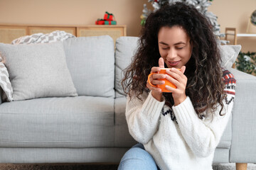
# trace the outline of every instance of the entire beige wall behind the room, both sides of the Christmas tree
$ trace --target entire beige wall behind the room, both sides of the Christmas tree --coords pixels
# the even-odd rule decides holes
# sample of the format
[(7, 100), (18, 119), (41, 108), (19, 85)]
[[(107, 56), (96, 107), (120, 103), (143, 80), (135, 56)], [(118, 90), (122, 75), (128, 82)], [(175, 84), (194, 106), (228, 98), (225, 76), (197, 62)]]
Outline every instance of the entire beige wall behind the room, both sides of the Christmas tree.
[[(143, 4), (152, 8), (147, 0), (0, 0), (0, 23), (94, 25), (109, 11), (119, 25), (127, 25), (127, 35), (138, 36)], [(226, 27), (245, 33), (255, 10), (255, 0), (213, 0), (208, 8), (218, 16), (222, 33)], [(252, 28), (256, 33), (256, 26)], [(238, 38), (244, 52), (256, 52), (255, 42), (256, 38)]]

